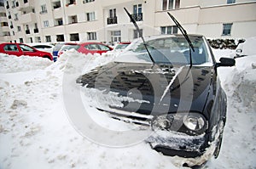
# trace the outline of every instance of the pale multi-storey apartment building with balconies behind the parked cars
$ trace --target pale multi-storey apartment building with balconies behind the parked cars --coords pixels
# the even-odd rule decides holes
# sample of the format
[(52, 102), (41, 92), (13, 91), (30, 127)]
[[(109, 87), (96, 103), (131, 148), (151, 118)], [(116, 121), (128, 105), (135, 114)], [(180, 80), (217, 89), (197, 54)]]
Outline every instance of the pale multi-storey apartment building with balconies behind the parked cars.
[(208, 38), (256, 36), (256, 0), (5, 0), (3, 6), (0, 41), (131, 41), (138, 32), (124, 7), (143, 36), (177, 33), (167, 12), (189, 33)]

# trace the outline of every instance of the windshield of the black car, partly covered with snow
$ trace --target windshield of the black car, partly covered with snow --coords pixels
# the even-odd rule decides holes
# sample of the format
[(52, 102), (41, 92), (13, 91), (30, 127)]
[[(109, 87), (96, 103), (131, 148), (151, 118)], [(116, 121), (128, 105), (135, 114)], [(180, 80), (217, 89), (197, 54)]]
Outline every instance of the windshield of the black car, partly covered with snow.
[[(195, 52), (191, 50), (192, 64), (202, 65), (212, 63), (203, 37), (189, 37)], [(145, 39), (149, 54), (156, 64), (189, 65), (189, 44), (183, 36), (160, 36)], [(152, 63), (141, 39), (131, 43), (127, 51), (119, 54), (117, 62)]]

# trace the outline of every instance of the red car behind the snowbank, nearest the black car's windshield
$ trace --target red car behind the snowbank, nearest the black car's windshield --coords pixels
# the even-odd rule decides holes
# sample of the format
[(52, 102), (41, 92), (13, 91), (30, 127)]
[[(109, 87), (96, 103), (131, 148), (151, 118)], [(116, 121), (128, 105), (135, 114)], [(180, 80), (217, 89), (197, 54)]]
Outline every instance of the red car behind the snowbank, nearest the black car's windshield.
[(113, 48), (108, 47), (108, 45), (105, 45), (101, 42), (67, 43), (62, 46), (58, 56), (63, 54), (64, 51), (70, 50), (72, 48), (82, 54), (102, 54), (113, 50)]

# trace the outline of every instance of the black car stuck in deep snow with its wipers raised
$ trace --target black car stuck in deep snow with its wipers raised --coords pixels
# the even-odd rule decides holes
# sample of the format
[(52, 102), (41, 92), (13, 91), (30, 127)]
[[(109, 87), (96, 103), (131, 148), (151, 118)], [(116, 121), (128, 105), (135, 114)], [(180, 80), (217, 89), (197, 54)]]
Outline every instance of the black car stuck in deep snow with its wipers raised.
[(235, 65), (235, 59), (217, 62), (205, 37), (189, 39), (194, 52), (182, 35), (137, 39), (113, 62), (90, 70), (77, 83), (107, 98), (117, 93), (119, 104), (101, 102), (97, 109), (151, 127), (146, 141), (153, 149), (185, 157), (183, 166), (201, 166), (212, 155), (218, 157), (226, 121), (227, 99), (217, 70)]

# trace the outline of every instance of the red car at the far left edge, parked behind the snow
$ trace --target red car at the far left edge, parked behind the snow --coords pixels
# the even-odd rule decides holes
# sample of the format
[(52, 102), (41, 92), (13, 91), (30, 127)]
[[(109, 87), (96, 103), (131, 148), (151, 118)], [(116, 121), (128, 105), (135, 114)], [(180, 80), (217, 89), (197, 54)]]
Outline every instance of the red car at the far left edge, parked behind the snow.
[(51, 54), (43, 51), (39, 51), (36, 48), (30, 47), (23, 43), (11, 43), (5, 42), (0, 44), (0, 53), (11, 54), (16, 56), (27, 55), (27, 56), (38, 56), (53, 60)]

